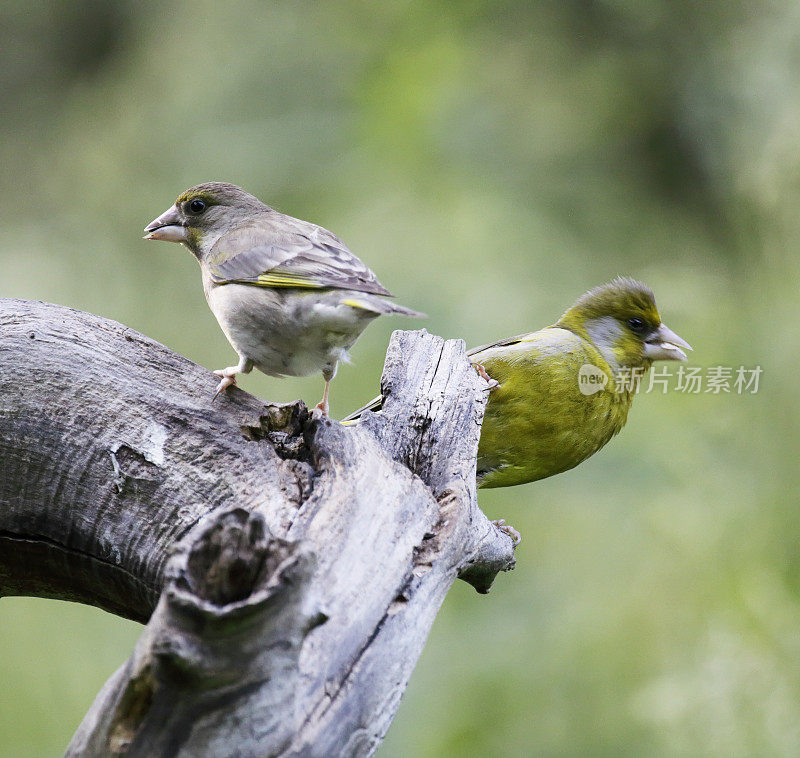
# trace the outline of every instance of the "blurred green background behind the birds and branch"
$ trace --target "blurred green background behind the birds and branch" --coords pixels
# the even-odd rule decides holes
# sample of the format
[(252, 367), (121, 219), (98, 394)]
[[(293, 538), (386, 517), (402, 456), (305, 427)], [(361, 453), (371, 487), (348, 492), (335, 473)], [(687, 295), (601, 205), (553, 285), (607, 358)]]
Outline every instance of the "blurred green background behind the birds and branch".
[[(524, 535), (448, 596), (380, 755), (800, 754), (800, 7), (791, 0), (59, 3), (0, 11), (0, 296), (233, 352), (142, 227), (203, 180), (339, 234), (469, 345), (628, 274), (745, 394), (645, 394), (578, 469), (481, 493)], [(377, 388), (374, 324), (333, 384)], [(265, 399), (321, 381), (253, 374)], [(209, 384), (211, 386), (211, 384)], [(0, 601), (0, 756), (63, 750), (141, 627)]]

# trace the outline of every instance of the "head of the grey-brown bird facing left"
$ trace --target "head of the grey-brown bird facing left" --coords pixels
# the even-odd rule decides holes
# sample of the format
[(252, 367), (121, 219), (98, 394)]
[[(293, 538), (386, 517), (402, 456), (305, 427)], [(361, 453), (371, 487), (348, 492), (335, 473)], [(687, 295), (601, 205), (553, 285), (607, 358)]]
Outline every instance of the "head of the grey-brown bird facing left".
[(270, 210), (235, 184), (206, 182), (181, 193), (171, 208), (145, 227), (144, 239), (181, 242), (200, 257), (223, 234)]

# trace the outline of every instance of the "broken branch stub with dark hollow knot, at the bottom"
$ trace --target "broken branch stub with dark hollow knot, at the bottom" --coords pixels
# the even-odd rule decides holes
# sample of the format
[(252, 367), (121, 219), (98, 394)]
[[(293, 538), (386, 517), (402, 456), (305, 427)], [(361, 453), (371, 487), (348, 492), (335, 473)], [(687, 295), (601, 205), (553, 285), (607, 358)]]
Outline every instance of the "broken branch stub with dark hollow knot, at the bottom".
[(205, 517), (170, 560), (155, 613), (117, 675), (121, 686), (95, 705), (99, 718), (67, 755), (226, 755), (242, 749), (231, 724), (258, 735), (252, 755), (285, 747), (300, 649), (325, 621), (306, 593), (312, 570), (257, 513)]

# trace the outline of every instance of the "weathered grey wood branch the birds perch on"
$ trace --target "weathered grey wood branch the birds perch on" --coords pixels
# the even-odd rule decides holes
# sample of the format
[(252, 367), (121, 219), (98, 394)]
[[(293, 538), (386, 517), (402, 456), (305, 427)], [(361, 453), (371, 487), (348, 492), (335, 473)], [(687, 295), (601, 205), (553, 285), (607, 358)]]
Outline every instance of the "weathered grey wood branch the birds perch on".
[(475, 498), (486, 385), (424, 331), (354, 427), (215, 381), (0, 300), (0, 595), (147, 622), (69, 755), (370, 755), (455, 578), (514, 564)]

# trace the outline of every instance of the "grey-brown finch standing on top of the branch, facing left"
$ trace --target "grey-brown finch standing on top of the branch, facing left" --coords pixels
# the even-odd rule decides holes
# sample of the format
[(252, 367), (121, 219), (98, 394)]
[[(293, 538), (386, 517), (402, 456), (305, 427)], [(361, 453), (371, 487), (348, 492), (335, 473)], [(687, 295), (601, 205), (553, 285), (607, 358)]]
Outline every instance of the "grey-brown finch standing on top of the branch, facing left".
[(327, 415), (331, 379), (366, 326), (383, 314), (424, 315), (384, 300), (389, 291), (333, 233), (234, 184), (186, 190), (145, 232), (185, 245), (200, 264), (208, 305), (239, 356), (214, 372), (217, 395), (253, 367), (270, 376), (321, 371), (317, 408)]

